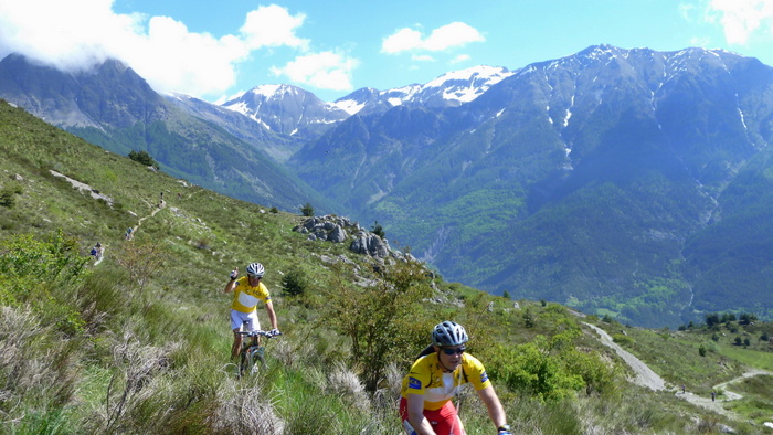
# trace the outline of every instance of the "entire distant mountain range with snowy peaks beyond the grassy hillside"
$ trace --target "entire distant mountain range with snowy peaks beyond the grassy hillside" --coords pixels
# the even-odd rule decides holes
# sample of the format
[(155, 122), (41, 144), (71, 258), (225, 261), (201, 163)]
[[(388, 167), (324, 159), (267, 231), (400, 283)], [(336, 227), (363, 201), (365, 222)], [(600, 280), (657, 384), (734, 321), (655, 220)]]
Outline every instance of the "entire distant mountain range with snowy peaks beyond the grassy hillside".
[(447, 279), (642, 326), (773, 316), (773, 68), (591, 46), (326, 103), (261, 85), (213, 105), (108, 61), (10, 55), (0, 97), (113, 152), (265, 205), (378, 222)]

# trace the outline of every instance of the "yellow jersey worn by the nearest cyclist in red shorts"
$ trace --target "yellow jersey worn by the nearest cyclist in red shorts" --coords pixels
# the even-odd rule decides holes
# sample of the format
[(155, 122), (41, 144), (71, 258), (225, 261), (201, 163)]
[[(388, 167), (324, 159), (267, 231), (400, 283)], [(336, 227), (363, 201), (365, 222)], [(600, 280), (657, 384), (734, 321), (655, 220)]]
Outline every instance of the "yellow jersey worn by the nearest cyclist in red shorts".
[(472, 354), (464, 353), (459, 367), (446, 373), (437, 360), (437, 352), (433, 352), (413, 363), (411, 372), (403, 379), (402, 396), (422, 394), (425, 410), (440, 410), (466, 382), (470, 382), (475, 390), (491, 384), (483, 363)]

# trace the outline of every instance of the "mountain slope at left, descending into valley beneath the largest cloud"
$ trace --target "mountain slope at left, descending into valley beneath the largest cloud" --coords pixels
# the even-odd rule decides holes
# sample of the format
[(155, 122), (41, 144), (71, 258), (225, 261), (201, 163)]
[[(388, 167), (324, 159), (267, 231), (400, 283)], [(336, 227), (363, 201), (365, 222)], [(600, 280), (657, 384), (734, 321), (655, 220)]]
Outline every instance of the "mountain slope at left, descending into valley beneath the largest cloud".
[[(234, 198), (285, 210), (308, 201), (335, 208), (260, 147), (282, 138), (248, 119), (241, 124), (247, 134), (234, 136), (222, 127), (239, 125), (234, 114), (215, 116), (211, 106), (165, 98), (117, 61), (64, 73), (9, 55), (0, 61), (0, 97), (107, 150), (148, 151), (170, 174)], [(214, 123), (218, 116), (223, 117)]]

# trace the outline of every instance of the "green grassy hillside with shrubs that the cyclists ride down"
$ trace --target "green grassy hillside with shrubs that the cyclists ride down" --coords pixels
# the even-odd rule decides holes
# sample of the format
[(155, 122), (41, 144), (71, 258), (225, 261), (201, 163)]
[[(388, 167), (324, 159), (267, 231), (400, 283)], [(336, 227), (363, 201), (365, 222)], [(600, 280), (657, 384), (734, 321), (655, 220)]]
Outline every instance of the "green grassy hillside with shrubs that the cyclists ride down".
[[(705, 396), (770, 370), (767, 323), (652, 331), (516, 304), (307, 241), (292, 231), (301, 216), (152, 171), (4, 103), (0, 152), (2, 433), (396, 434), (400, 379), (445, 319), (467, 328), (516, 433), (761, 433), (773, 420), (771, 376), (739, 386), (734, 420), (627, 382), (583, 325)], [(239, 380), (222, 288), (252, 261), (266, 266), (284, 336), (266, 343), (267, 370)], [(735, 335), (756, 338), (734, 346)], [(493, 433), (480, 402), (462, 400), (467, 433)]]

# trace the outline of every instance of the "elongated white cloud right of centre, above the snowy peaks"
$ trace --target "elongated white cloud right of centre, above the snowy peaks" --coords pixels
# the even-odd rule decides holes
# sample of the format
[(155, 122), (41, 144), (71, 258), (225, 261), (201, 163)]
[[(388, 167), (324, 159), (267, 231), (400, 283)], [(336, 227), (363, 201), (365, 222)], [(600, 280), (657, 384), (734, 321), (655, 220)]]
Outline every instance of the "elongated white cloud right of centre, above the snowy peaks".
[(437, 52), (483, 41), (486, 39), (480, 32), (457, 21), (433, 30), (426, 38), (417, 30), (400, 29), (383, 40), (381, 51), (389, 54), (411, 51)]

